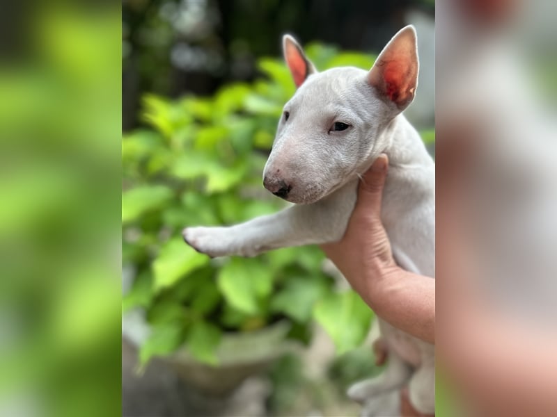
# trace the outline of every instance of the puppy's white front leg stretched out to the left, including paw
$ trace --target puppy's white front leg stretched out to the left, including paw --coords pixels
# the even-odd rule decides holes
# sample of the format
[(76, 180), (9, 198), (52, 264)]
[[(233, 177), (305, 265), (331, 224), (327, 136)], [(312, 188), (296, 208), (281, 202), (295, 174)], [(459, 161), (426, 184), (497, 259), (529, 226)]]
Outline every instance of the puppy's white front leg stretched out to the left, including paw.
[(187, 227), (186, 243), (209, 256), (256, 256), (279, 247), (342, 238), (356, 202), (354, 184), (313, 204), (296, 205), (230, 227)]

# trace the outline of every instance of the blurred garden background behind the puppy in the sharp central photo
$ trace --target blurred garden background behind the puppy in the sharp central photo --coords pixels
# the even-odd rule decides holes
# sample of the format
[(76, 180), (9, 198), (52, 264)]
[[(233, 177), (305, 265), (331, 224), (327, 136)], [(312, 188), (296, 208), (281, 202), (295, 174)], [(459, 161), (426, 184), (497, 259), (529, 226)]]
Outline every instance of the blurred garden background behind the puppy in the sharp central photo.
[(374, 317), (320, 250), (208, 259), (180, 231), (285, 206), (261, 180), (295, 92), (284, 33), (318, 70), (367, 70), (406, 24), (433, 152), (433, 1), (124, 1), (123, 415), (359, 414)]

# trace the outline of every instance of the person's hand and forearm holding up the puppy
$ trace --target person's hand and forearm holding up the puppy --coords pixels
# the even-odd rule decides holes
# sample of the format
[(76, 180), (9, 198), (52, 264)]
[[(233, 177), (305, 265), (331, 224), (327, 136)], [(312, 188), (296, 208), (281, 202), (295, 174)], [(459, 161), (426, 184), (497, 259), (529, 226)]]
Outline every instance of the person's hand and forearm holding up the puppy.
[(387, 167), (387, 156), (379, 156), (360, 181), (345, 236), (321, 247), (377, 316), (435, 343), (435, 281), (396, 265), (381, 222)]

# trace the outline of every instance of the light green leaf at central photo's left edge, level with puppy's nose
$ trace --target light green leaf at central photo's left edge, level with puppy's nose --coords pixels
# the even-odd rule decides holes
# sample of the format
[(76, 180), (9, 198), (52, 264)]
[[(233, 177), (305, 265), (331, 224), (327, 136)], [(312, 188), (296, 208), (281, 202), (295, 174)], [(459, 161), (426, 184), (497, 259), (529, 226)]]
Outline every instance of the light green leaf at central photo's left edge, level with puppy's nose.
[(162, 208), (173, 197), (167, 186), (139, 186), (122, 195), (122, 222), (133, 222), (148, 211)]

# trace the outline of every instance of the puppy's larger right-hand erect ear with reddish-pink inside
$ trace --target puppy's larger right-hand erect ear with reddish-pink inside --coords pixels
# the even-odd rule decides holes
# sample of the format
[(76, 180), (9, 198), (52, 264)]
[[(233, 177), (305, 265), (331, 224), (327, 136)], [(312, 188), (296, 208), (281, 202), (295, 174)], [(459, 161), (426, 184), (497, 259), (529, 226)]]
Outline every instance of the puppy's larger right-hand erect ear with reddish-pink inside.
[(418, 85), (418, 47), (414, 26), (400, 29), (368, 73), (368, 82), (400, 111), (414, 99)]

